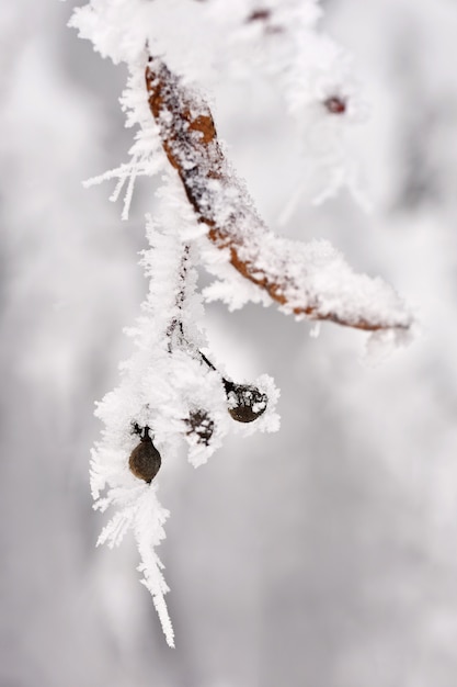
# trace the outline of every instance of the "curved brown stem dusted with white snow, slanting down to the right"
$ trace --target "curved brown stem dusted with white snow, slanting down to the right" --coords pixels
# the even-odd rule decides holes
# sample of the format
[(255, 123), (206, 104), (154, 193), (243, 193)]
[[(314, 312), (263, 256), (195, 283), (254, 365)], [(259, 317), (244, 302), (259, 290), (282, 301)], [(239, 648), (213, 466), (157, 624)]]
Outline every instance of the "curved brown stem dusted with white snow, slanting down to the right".
[(328, 241), (302, 244), (269, 230), (225, 158), (208, 105), (162, 60), (149, 57), (146, 88), (198, 222), (242, 277), (297, 316), (369, 331), (410, 329), (412, 315), (393, 289), (355, 274)]

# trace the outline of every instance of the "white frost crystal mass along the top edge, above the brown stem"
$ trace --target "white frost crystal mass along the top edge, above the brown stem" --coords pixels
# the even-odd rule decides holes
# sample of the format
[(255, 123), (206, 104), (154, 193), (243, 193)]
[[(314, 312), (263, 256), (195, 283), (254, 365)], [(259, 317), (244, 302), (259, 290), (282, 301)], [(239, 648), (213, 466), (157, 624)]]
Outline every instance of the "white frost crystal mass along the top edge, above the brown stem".
[[(152, 154), (157, 137), (151, 135), (155, 124), (144, 98), (147, 46), (184, 81), (201, 83), (207, 92), (221, 78), (273, 77), (297, 124), (308, 184), (312, 169), (315, 202), (347, 187), (366, 204), (350, 131), (366, 116), (367, 108), (350, 55), (320, 31), (321, 14), (317, 0), (91, 0), (78, 8), (70, 23), (79, 35), (102, 56), (128, 65), (133, 76), (123, 104), (130, 113), (127, 123), (140, 126), (130, 162), (91, 182), (117, 177), (114, 200), (128, 178), (126, 217), (135, 178), (161, 167), (162, 154)], [(344, 113), (329, 112), (325, 102), (331, 98), (344, 102)], [(294, 198), (302, 191), (298, 189)]]

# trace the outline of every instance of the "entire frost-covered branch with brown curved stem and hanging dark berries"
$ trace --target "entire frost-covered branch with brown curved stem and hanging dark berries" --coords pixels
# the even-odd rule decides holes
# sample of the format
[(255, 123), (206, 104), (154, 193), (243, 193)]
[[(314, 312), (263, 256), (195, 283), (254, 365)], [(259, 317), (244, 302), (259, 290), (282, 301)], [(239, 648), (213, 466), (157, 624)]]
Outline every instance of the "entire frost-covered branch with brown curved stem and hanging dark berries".
[[(169, 515), (158, 498), (161, 475), (180, 447), (198, 466), (228, 432), (279, 426), (273, 380), (233, 382), (214, 362), (204, 299), (224, 299), (231, 308), (247, 300), (275, 302), (297, 317), (369, 330), (375, 347), (401, 339), (412, 324), (390, 286), (355, 274), (328, 241), (292, 241), (265, 226), (226, 158), (207, 105), (210, 74), (277, 78), (304, 139), (324, 149), (330, 142), (330, 156), (307, 155), (325, 177), (321, 199), (344, 184), (356, 189), (341, 145), (359, 110), (356, 89), (344, 52), (317, 30), (319, 16), (316, 0), (88, 0), (71, 20), (103, 56), (127, 65), (121, 103), (127, 126), (137, 129), (130, 161), (88, 185), (117, 179), (111, 200), (125, 189), (127, 218), (135, 180), (158, 172), (164, 180), (147, 221), (142, 264), (150, 284), (130, 330), (135, 349), (119, 384), (96, 407), (104, 430), (92, 451), (91, 488), (95, 509), (114, 509), (99, 543), (116, 547), (133, 533), (141, 582), (171, 646), (169, 589), (157, 554)], [(202, 263), (217, 278), (204, 293)]]

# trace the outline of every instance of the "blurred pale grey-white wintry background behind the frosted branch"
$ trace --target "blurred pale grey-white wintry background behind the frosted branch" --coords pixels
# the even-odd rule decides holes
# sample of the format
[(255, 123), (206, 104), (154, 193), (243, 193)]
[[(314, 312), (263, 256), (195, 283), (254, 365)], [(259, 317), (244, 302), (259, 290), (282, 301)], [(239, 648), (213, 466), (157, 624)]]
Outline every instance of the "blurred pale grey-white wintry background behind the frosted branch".
[(331, 239), (418, 307), (422, 333), (372, 369), (362, 333), (208, 308), (218, 358), (274, 375), (283, 420), (162, 480), (175, 650), (134, 547), (94, 549), (88, 487), (93, 403), (147, 288), (153, 184), (127, 223), (107, 187), (81, 187), (126, 158), (125, 74), (66, 29), (71, 3), (0, 9), (2, 686), (455, 684), (457, 7), (323, 7), (369, 102), (350, 149), (372, 212), (346, 190), (311, 204), (324, 172), (306, 168), (266, 82), (220, 85), (217, 123), (269, 225)]

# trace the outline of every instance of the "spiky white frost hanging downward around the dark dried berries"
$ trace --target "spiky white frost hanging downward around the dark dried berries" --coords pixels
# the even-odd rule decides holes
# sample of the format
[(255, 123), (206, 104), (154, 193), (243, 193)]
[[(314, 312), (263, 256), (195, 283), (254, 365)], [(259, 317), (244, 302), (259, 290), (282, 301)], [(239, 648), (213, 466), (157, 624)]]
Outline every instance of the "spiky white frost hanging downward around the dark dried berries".
[(129, 455), (148, 428), (149, 437), (161, 455), (160, 471), (184, 442), (188, 461), (196, 468), (221, 446), (231, 429), (275, 431), (278, 416), (274, 407), (278, 396), (267, 375), (256, 383), (269, 397), (265, 413), (255, 427), (238, 428), (229, 413), (224, 378), (205, 362), (207, 350), (201, 325), (203, 305), (197, 292), (199, 236), (174, 172), (158, 195), (160, 222), (148, 218), (142, 264), (150, 286), (136, 326), (128, 330), (135, 351), (122, 363), (119, 385), (98, 404), (95, 415), (103, 421), (102, 439), (93, 449), (91, 488), (95, 509), (116, 513), (103, 529), (98, 543), (116, 547), (132, 530), (138, 545), (142, 583), (152, 595), (168, 643), (173, 631), (167, 611), (168, 592), (162, 564), (156, 547), (164, 538), (168, 517), (158, 499), (160, 473), (150, 484), (129, 470)]

